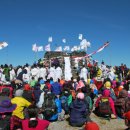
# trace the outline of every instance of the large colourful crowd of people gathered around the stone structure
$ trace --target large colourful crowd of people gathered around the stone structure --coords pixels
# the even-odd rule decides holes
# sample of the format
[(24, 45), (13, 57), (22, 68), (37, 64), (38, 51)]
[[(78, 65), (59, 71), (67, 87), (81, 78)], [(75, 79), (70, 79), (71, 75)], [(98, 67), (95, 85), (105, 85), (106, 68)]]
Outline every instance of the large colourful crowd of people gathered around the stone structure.
[(72, 127), (99, 130), (91, 113), (124, 119), (130, 130), (130, 69), (87, 63), (77, 78), (64, 79), (59, 64), (0, 66), (0, 128), (46, 130), (67, 120)]

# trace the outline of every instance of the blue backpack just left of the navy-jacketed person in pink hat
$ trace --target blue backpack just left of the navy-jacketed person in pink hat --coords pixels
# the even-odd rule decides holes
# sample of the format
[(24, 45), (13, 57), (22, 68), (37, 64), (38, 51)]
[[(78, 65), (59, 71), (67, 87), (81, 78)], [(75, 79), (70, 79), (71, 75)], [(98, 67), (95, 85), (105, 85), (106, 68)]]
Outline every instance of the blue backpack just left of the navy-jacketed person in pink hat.
[(69, 112), (68, 97), (63, 95), (60, 97), (60, 100), (62, 109), (65, 111), (66, 114), (68, 114)]

